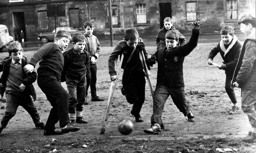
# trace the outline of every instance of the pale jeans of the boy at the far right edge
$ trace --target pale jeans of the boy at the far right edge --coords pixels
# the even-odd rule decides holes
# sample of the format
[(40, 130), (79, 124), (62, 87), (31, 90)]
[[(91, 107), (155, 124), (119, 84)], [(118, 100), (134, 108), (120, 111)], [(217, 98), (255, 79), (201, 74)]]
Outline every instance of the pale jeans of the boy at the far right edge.
[(242, 110), (247, 114), (252, 128), (256, 129), (256, 90), (241, 89), (242, 99), (241, 105)]

